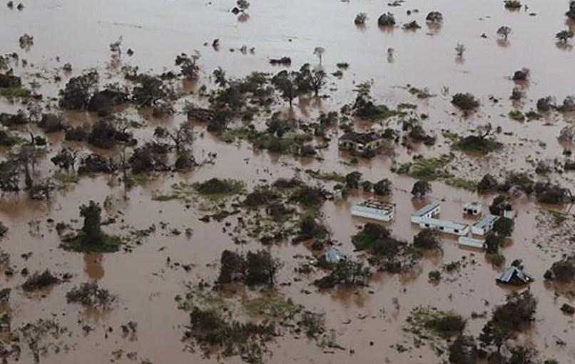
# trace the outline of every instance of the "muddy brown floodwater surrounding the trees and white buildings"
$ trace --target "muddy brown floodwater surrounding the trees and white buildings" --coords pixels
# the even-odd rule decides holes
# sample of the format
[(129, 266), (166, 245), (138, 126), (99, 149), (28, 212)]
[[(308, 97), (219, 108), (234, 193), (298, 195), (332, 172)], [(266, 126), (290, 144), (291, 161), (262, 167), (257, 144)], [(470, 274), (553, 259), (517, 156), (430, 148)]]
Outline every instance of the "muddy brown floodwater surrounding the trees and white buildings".
[[(395, 191), (392, 201), (397, 204), (397, 218), (390, 226), (395, 236), (410, 240), (417, 228), (409, 223), (409, 215), (417, 206), (411, 200), (409, 189), (413, 181), (390, 172), (395, 158), (397, 162), (409, 161), (414, 153), (437, 156), (449, 151), (441, 130), (466, 133), (474, 127), (491, 122), (501, 126), (509, 135), (501, 135), (506, 144), (504, 152), (497, 156), (472, 157), (457, 155), (460, 176), (479, 179), (484, 173), (502, 176), (509, 170), (532, 171), (533, 160), (561, 157), (564, 146), (556, 136), (566, 118), (557, 115), (545, 120), (518, 123), (507, 117), (512, 108), (509, 95), (514, 82), (509, 79), (513, 72), (527, 67), (531, 80), (524, 85), (527, 98), (523, 110), (534, 108), (536, 99), (553, 95), (561, 101), (575, 93), (573, 65), (575, 55), (571, 49), (561, 49), (555, 44), (554, 34), (566, 29), (564, 13), (567, 1), (530, 1), (529, 10), (507, 11), (502, 1), (405, 1), (401, 6), (387, 6), (382, 1), (279, 1), (253, 0), (248, 9), (249, 19), (238, 20), (230, 13), (233, 1), (30, 1), (24, 3), (23, 11), (0, 7), (0, 49), (4, 53), (17, 52), (29, 66), (16, 67), (15, 74), (25, 81), (37, 81), (39, 92), (56, 96), (67, 80), (54, 81), (54, 69), (65, 63), (73, 65), (73, 74), (96, 67), (101, 74), (110, 74), (108, 44), (123, 37), (124, 53), (131, 48), (135, 54), (122, 57), (123, 64), (138, 65), (140, 69), (160, 72), (174, 69), (173, 59), (181, 52), (198, 50), (203, 77), (198, 84), (208, 83), (211, 71), (221, 66), (228, 76), (244, 76), (251, 71), (277, 71), (269, 65), (270, 58), (290, 56), (292, 66), (305, 62), (317, 64), (313, 56), (315, 46), (326, 49), (322, 64), (327, 71), (335, 71), (337, 62), (348, 62), (350, 69), (344, 71), (341, 80), (332, 77), (330, 98), (321, 101), (300, 101), (295, 112), (301, 118), (314, 118), (322, 111), (338, 110), (352, 102), (354, 85), (363, 81), (373, 82), (373, 96), (392, 106), (400, 102), (416, 103), (419, 113), (429, 118), (424, 127), (437, 134), (439, 143), (433, 147), (419, 146), (414, 151), (397, 150), (397, 156), (377, 156), (372, 161), (362, 161), (354, 167), (341, 163), (344, 159), (337, 151), (337, 131), (330, 148), (322, 151), (322, 161), (297, 160), (291, 157), (270, 156), (255, 153), (246, 143), (226, 144), (210, 134), (198, 130), (194, 153), (198, 160), (207, 158), (208, 152), (218, 153), (215, 165), (204, 165), (185, 175), (157, 176), (142, 186), (124, 191), (118, 176), (84, 177), (64, 191), (58, 191), (51, 201), (29, 201), (24, 193), (19, 196), (5, 194), (0, 202), (0, 221), (9, 227), (9, 235), (1, 241), (1, 248), (11, 254), (11, 266), (17, 272), (14, 277), (2, 275), (2, 288), (14, 288), (11, 295), (13, 311), (12, 327), (39, 318), (56, 318), (68, 328), (65, 335), (55, 342), (66, 345), (58, 353), (52, 348), (41, 358), (42, 363), (102, 363), (114, 358), (116, 350), (137, 353), (137, 362), (196, 363), (202, 360), (200, 353), (190, 353), (181, 342), (188, 315), (178, 310), (176, 295), (185, 294), (185, 283), (198, 283), (201, 279), (213, 281), (218, 275), (220, 253), (224, 249), (248, 251), (260, 248), (260, 243), (234, 246), (223, 225), (217, 222), (202, 223), (198, 218), (202, 211), (187, 208), (180, 201), (153, 201), (155, 191), (169, 191), (178, 181), (204, 181), (207, 178), (237, 178), (245, 181), (248, 190), (261, 179), (274, 181), (278, 177), (292, 177), (296, 168), (312, 168), (322, 171), (347, 173), (357, 170), (366, 179), (377, 181), (390, 178)], [(407, 15), (408, 9), (419, 9)], [(428, 29), (424, 17), (429, 11), (444, 14), (440, 29)], [(353, 24), (355, 14), (365, 11), (370, 20), (365, 29)], [(382, 12), (395, 13), (398, 25), (383, 31), (377, 27), (377, 17)], [(530, 16), (535, 13), (536, 16)], [(416, 19), (422, 25), (417, 31), (404, 31), (400, 25)], [(508, 25), (513, 33), (507, 43), (497, 41), (497, 28)], [(27, 33), (34, 36), (34, 46), (29, 51), (19, 49), (18, 39)], [(485, 33), (487, 39), (481, 37)], [(211, 46), (213, 39), (220, 39), (219, 51)], [(454, 46), (467, 46), (464, 59), (455, 57)], [(241, 46), (255, 47), (253, 54), (241, 54)], [(387, 49), (395, 49), (392, 60)], [(234, 51), (230, 51), (234, 49)], [(58, 61), (58, 59), (59, 61)], [(106, 71), (108, 70), (108, 71)], [(411, 84), (427, 87), (437, 96), (418, 101), (402, 86)], [(450, 93), (472, 92), (482, 101), (481, 110), (462, 118), (449, 100), (442, 95), (442, 88)], [(489, 101), (489, 96), (500, 98), (499, 103)], [(193, 96), (192, 98), (193, 99)], [(0, 101), (1, 111), (14, 112), (19, 105)], [(286, 110), (280, 103), (278, 108)], [(136, 132), (138, 138), (150, 138), (158, 123), (177, 125), (184, 121), (181, 115), (156, 121), (128, 108), (123, 113), (130, 118), (144, 118), (148, 127)], [(90, 122), (93, 116), (68, 114), (72, 123)], [(198, 127), (201, 129), (203, 127)], [(51, 149), (58, 150), (63, 136), (50, 139)], [(53, 172), (49, 158), (41, 163), (42, 173)], [(301, 176), (305, 178), (305, 174)], [(551, 175), (573, 188), (569, 173)], [(311, 181), (311, 183), (318, 183)], [(328, 183), (331, 185), (331, 183)], [(462, 204), (465, 201), (482, 201), (489, 205), (492, 196), (476, 196), (464, 190), (433, 183), (434, 192), (429, 201), (441, 201), (442, 217), (462, 220)], [(111, 196), (113, 203), (106, 208), (107, 216), (117, 216), (116, 223), (106, 226), (110, 233), (124, 233), (128, 229), (144, 229), (156, 225), (156, 233), (143, 239), (131, 253), (79, 254), (67, 253), (58, 248), (59, 239), (51, 218), (56, 222), (70, 222), (78, 218), (78, 207), (89, 199), (103, 202)], [(322, 212), (327, 226), (339, 248), (352, 253), (350, 236), (361, 219), (350, 217), (350, 207), (362, 201), (361, 194), (349, 196), (345, 201), (328, 201)], [(512, 241), (502, 253), (509, 264), (514, 259), (524, 261), (526, 271), (536, 278), (530, 285), (531, 292), (539, 300), (536, 322), (532, 330), (523, 333), (519, 342), (531, 342), (540, 351), (541, 358), (556, 358), (560, 363), (575, 362), (574, 320), (561, 313), (559, 308), (569, 298), (556, 298), (554, 290), (546, 286), (542, 275), (559, 258), (557, 249), (545, 250), (537, 246), (554, 246), (563, 253), (572, 253), (570, 236), (554, 236), (541, 233), (536, 228), (536, 216), (541, 206), (527, 198), (518, 201), (519, 216)], [(566, 207), (569, 212), (569, 207)], [(235, 218), (228, 220), (234, 222)], [(35, 223), (37, 222), (37, 223)], [(168, 223), (165, 229), (160, 222)], [(75, 223), (79, 226), (79, 223)], [(171, 229), (193, 229), (193, 236), (175, 236)], [(544, 227), (545, 228), (545, 227)], [(335, 330), (337, 343), (345, 350), (322, 353), (315, 343), (306, 338), (294, 338), (286, 334), (269, 345), (270, 363), (437, 363), (439, 358), (428, 347), (414, 348), (413, 337), (404, 333), (402, 327), (409, 311), (417, 305), (432, 305), (442, 310), (455, 310), (469, 318), (467, 331), (477, 335), (485, 319), (472, 319), (472, 313), (488, 312), (502, 303), (510, 288), (496, 285), (497, 270), (480, 252), (458, 248), (457, 241), (445, 237), (440, 256), (427, 257), (415, 273), (407, 276), (377, 274), (370, 287), (354, 290), (317, 291), (310, 282), (320, 276), (302, 276), (294, 280), (294, 268), (298, 255), (311, 256), (303, 245), (283, 243), (270, 248), (273, 255), (285, 265), (280, 272), (279, 290), (305, 308), (326, 313), (327, 328)], [(22, 254), (33, 252), (27, 260)], [(171, 263), (167, 259), (171, 259)], [(444, 273), (437, 285), (428, 282), (427, 273), (443, 263), (464, 259), (469, 264), (458, 273)], [(173, 266), (174, 262), (192, 264), (185, 272)], [(474, 263), (470, 263), (474, 262)], [(43, 295), (27, 295), (19, 289), (24, 279), (18, 272), (22, 268), (40, 271), (50, 268), (56, 273), (73, 273), (70, 283), (56, 285)], [(73, 285), (86, 280), (98, 280), (101, 287), (118, 295), (118, 303), (105, 312), (92, 312), (79, 305), (66, 303), (66, 292)], [(399, 305), (396, 305), (395, 301)], [(571, 305), (573, 301), (571, 298)], [(120, 325), (133, 320), (138, 323), (136, 338), (123, 338)], [(85, 335), (82, 326), (88, 324), (93, 330)], [(113, 328), (109, 331), (108, 328)], [(566, 345), (557, 345), (558, 339)], [(373, 345), (371, 345), (372, 343)], [(402, 344), (409, 351), (400, 353), (395, 346)], [(61, 348), (63, 348), (61, 345)], [(353, 351), (350, 351), (353, 350)], [(210, 360), (216, 360), (215, 357)], [(230, 363), (239, 358), (226, 358)], [(22, 363), (31, 363), (28, 348), (24, 348)], [(209, 360), (205, 360), (206, 363)], [(126, 355), (116, 363), (132, 363)]]

